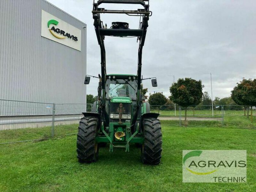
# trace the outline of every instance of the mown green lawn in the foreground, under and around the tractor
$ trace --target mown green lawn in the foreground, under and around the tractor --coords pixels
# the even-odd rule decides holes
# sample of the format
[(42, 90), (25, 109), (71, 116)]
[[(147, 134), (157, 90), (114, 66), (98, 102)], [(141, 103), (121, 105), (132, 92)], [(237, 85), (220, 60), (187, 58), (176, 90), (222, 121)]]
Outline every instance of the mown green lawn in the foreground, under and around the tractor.
[[(256, 191), (255, 129), (168, 124), (162, 121), (162, 162), (157, 166), (141, 164), (135, 146), (130, 153), (101, 148), (98, 162), (80, 164), (76, 135), (0, 145), (0, 191)], [(185, 149), (247, 150), (247, 183), (182, 183)]]

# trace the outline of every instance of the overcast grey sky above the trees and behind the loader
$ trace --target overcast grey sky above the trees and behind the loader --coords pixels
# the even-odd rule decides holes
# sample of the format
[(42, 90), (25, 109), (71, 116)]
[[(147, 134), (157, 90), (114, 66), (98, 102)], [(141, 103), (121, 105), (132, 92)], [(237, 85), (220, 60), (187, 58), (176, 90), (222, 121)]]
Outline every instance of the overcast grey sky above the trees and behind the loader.
[[(48, 0), (87, 24), (87, 74), (100, 73), (92, 0)], [(104, 8), (138, 9), (140, 6), (103, 5)], [(143, 82), (149, 92), (163, 92), (178, 78), (201, 79), (213, 99), (229, 97), (237, 82), (256, 78), (255, 0), (150, 0), (149, 28), (142, 55), (143, 78), (157, 77), (158, 87)], [(101, 18), (130, 23), (138, 28), (139, 17), (105, 14)], [(136, 38), (106, 37), (107, 73), (137, 74)], [(81, 84), (83, 86), (83, 84)], [(87, 94), (97, 94), (98, 79), (91, 79)]]

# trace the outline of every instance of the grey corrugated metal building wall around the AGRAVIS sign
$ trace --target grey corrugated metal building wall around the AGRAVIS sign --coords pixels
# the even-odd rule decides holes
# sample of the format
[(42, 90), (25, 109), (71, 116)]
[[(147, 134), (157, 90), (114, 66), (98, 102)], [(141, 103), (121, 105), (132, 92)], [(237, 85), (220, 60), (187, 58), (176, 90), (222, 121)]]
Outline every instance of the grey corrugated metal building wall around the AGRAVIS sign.
[[(41, 10), (81, 29), (81, 52), (41, 36)], [(0, 0), (0, 99), (85, 103), (86, 25), (44, 0)]]

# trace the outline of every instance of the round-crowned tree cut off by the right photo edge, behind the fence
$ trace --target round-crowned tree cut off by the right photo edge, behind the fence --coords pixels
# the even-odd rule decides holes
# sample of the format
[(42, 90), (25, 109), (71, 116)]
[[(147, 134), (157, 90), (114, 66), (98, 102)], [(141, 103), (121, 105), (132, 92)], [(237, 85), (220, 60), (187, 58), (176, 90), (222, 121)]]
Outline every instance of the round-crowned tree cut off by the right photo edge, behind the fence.
[[(251, 122), (252, 122), (252, 106), (256, 106), (256, 79), (243, 79), (231, 91), (231, 97), (237, 104), (251, 106)], [(249, 108), (248, 108), (249, 118)]]

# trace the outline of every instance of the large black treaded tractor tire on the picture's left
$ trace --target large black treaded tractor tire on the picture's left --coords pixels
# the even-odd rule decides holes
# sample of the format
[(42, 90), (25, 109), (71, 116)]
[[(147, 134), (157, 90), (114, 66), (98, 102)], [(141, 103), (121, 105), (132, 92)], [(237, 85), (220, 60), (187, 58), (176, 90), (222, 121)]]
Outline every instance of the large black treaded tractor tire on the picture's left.
[(99, 145), (95, 142), (97, 136), (98, 119), (96, 117), (83, 117), (79, 123), (76, 151), (80, 163), (92, 163), (99, 156)]

